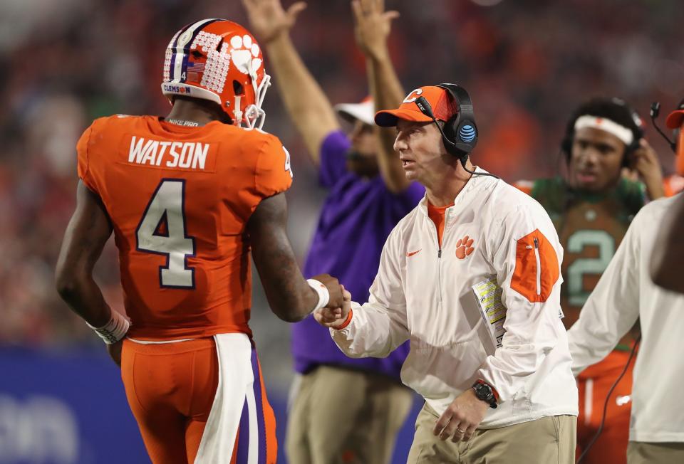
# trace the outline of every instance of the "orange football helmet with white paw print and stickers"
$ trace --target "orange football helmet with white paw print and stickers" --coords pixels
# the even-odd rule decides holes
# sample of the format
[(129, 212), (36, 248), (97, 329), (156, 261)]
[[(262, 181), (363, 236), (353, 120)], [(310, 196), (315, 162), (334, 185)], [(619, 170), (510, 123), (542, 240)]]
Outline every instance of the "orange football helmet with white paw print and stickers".
[(246, 28), (227, 19), (202, 19), (175, 33), (166, 49), (162, 93), (218, 103), (234, 125), (264, 125), (261, 105), (271, 76), (261, 47)]

